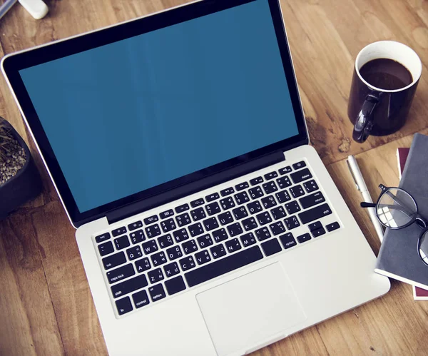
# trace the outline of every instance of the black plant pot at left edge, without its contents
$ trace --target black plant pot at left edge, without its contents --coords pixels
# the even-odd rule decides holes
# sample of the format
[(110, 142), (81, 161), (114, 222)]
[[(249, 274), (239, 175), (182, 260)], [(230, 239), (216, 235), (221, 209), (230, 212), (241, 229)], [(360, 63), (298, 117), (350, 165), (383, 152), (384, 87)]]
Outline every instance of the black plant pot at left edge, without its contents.
[(9, 132), (24, 148), (26, 154), (24, 167), (6, 183), (0, 185), (0, 220), (2, 220), (27, 200), (36, 198), (41, 193), (42, 185), (39, 171), (37, 171), (28, 146), (8, 121), (4, 118), (0, 118), (0, 121), (4, 121), (6, 127), (10, 128)]

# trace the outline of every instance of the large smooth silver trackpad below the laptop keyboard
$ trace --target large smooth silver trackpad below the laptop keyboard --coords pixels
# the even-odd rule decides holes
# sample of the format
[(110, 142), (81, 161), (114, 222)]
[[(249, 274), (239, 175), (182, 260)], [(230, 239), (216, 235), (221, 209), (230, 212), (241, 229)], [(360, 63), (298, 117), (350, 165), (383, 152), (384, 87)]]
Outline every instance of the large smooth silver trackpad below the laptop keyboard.
[(280, 263), (196, 296), (218, 355), (244, 353), (306, 319)]

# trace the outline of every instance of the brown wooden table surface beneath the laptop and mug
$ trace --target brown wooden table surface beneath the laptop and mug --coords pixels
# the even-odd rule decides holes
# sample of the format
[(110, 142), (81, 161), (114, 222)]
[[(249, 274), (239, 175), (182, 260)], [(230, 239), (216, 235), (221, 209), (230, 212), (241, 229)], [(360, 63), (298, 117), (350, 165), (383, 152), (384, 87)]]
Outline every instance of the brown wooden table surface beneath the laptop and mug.
[[(182, 0), (49, 0), (50, 14), (32, 19), (20, 5), (0, 21), (1, 56), (116, 24)], [(370, 192), (397, 185), (397, 147), (428, 133), (428, 1), (282, 0), (297, 81), (312, 145), (327, 165), (374, 253), (379, 240), (358, 207), (344, 159), (357, 155)], [(353, 61), (363, 46), (392, 39), (411, 46), (423, 74), (409, 119), (398, 133), (352, 141), (347, 118)], [(74, 229), (58, 200), (4, 78), (0, 115), (26, 139), (44, 178), (44, 192), (0, 223), (0, 354), (106, 354)], [(1, 202), (0, 202), (1, 203)], [(392, 281), (382, 298), (276, 342), (255, 355), (427, 354), (428, 302)]]

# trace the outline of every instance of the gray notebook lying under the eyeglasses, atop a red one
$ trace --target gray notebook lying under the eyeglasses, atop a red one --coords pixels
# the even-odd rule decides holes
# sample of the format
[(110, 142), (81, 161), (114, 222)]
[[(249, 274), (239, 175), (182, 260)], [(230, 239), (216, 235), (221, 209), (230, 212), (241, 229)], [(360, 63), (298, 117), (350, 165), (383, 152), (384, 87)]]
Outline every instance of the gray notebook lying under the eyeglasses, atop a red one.
[[(399, 187), (412, 194), (419, 214), (428, 219), (428, 136), (414, 135)], [(416, 223), (400, 230), (386, 229), (375, 271), (428, 289), (428, 266), (417, 252), (421, 232)]]

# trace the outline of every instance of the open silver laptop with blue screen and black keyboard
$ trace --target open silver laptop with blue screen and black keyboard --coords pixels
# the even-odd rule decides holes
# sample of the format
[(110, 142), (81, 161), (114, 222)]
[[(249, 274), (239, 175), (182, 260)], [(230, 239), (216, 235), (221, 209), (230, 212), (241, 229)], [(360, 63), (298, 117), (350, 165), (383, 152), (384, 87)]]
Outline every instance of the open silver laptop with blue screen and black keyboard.
[(320, 157), (277, 0), (6, 56), (111, 355), (244, 355), (389, 290)]

